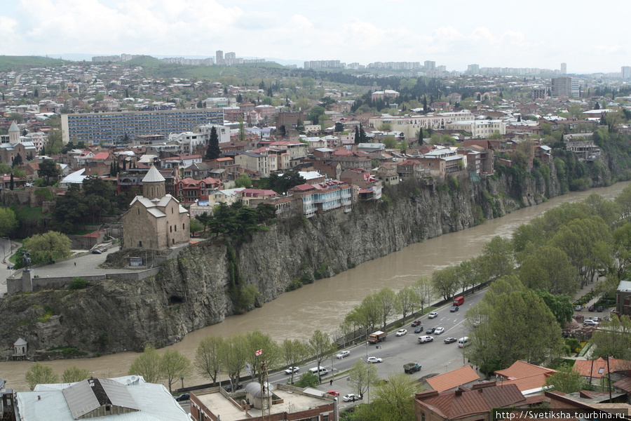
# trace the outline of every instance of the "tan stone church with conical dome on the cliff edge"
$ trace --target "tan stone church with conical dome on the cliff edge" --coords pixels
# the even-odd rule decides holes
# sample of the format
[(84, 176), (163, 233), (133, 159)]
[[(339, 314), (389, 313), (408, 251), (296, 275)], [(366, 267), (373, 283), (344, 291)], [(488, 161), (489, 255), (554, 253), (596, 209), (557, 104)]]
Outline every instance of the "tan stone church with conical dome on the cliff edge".
[(175, 197), (165, 194), (165, 179), (151, 166), (136, 196), (123, 214), (123, 248), (154, 250), (189, 241), (189, 213)]

